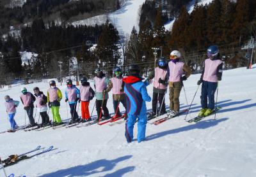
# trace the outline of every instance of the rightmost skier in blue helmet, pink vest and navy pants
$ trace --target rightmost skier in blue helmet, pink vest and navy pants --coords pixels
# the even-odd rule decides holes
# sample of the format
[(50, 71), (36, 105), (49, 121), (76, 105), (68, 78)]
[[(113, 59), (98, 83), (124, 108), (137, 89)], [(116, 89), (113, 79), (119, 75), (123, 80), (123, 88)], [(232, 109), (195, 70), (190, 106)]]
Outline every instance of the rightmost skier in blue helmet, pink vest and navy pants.
[[(198, 116), (207, 116), (214, 111), (214, 94), (218, 87), (218, 81), (222, 77), (223, 62), (220, 59), (218, 46), (212, 45), (207, 49), (208, 59), (204, 61), (204, 67), (197, 85), (202, 83), (201, 106)], [(207, 104), (207, 97), (209, 104)]]

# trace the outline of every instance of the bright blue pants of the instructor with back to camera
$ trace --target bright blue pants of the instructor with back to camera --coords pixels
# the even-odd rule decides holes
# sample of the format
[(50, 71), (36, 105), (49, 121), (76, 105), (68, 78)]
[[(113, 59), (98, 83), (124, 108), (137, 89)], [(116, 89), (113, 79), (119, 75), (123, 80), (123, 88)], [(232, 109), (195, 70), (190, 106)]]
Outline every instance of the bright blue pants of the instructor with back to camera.
[(131, 143), (133, 139), (133, 127), (138, 117), (138, 135), (137, 141), (140, 143), (145, 140), (146, 136), (146, 124), (147, 124), (147, 113), (140, 113), (140, 115), (128, 114), (127, 121), (125, 123), (125, 138), (127, 143)]

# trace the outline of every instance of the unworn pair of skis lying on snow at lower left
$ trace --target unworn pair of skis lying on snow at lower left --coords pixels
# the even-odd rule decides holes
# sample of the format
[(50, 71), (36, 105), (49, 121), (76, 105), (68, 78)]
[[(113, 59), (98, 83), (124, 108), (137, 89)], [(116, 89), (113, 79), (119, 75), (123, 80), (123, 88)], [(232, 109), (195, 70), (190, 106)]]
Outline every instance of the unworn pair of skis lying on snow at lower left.
[(34, 150), (31, 150), (29, 152), (22, 153), (20, 155), (10, 155), (7, 159), (3, 160), (2, 162), (4, 163), (4, 167), (12, 166), (13, 164), (17, 164), (21, 160), (25, 159), (31, 159), (32, 157), (35, 157), (37, 155), (41, 155), (42, 153), (50, 152), (53, 150), (53, 146), (49, 146), (49, 148), (43, 150), (42, 152), (35, 153), (33, 155), (27, 156), (29, 153), (36, 152), (38, 150), (42, 150), (41, 146), (37, 146)]

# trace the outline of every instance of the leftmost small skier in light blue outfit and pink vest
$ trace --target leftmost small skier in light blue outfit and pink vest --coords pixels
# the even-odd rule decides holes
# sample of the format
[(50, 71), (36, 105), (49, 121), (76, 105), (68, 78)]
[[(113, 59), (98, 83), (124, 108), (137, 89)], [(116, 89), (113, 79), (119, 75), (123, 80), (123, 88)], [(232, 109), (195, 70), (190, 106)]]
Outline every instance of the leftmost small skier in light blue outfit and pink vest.
[(16, 113), (16, 107), (19, 106), (19, 101), (14, 101), (10, 98), (10, 96), (4, 96), (5, 100), (5, 107), (6, 107), (6, 113), (8, 114), (9, 122), (11, 125), (12, 130), (17, 128), (17, 124), (14, 120), (14, 116)]

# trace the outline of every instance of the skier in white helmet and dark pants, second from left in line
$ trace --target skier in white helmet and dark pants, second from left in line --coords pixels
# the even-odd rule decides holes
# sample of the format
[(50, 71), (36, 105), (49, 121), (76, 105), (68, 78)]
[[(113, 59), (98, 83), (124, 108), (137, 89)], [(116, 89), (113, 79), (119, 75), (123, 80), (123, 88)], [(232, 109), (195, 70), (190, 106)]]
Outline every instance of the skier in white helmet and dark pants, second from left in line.
[(36, 100), (35, 96), (31, 94), (31, 92), (28, 92), (26, 87), (21, 88), (22, 94), (20, 95), (20, 100), (22, 104), (24, 104), (24, 110), (26, 110), (29, 118), (29, 125), (28, 127), (34, 127), (35, 125), (35, 119), (33, 117), (34, 112), (34, 102)]

